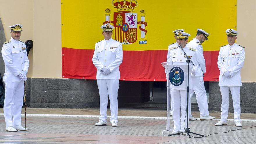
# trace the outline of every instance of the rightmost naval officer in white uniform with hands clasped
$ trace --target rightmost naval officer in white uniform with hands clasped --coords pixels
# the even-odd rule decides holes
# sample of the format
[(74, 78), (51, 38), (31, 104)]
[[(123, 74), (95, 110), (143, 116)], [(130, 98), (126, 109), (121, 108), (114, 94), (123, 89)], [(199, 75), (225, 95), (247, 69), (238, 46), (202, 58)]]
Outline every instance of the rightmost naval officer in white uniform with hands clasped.
[(220, 48), (218, 56), (218, 67), (221, 71), (219, 86), (221, 90), (221, 120), (215, 125), (227, 125), (229, 90), (232, 94), (234, 106), (235, 126), (241, 127), (240, 122), (240, 86), (241, 69), (244, 63), (244, 47), (235, 43), (238, 32), (234, 29), (227, 29), (227, 45)]

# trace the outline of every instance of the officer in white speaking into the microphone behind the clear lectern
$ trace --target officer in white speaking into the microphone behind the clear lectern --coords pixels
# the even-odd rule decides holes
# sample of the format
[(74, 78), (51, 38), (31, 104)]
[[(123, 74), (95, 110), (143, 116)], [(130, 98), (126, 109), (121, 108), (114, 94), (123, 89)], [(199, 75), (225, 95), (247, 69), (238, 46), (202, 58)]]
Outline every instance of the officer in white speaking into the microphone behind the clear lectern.
[[(188, 38), (190, 34), (177, 31), (177, 43), (178, 45), (181, 45), (186, 54), (189, 56), (189, 58), (192, 58), (196, 56), (195, 49), (189, 48), (186, 46), (186, 43), (188, 42)], [(179, 47), (173, 47), (170, 48), (170, 65), (187, 65), (187, 58), (184, 55), (184, 52)], [(192, 74), (196, 74), (196, 67), (192, 66), (190, 63), (190, 68), (192, 68)], [(175, 72), (176, 73), (176, 72)], [(191, 79), (191, 74), (188, 75)], [(186, 85), (187, 81), (183, 81), (185, 83), (184, 87), (174, 86), (173, 84), (170, 84), (171, 88), (171, 95), (173, 96), (173, 123), (174, 123), (174, 131), (172, 134), (177, 134), (180, 131), (184, 131), (186, 129), (186, 105), (187, 105), (187, 90)], [(192, 82), (189, 81), (189, 89), (191, 91), (192, 89)], [(180, 111), (182, 113), (181, 115), (181, 121), (180, 121)], [(184, 125), (185, 123), (185, 125)]]

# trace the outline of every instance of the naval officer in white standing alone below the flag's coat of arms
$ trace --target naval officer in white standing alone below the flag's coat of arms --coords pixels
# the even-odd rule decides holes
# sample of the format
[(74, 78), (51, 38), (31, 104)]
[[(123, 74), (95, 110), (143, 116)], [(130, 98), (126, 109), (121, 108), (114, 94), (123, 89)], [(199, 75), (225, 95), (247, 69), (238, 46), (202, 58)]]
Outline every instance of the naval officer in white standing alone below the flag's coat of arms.
[(96, 126), (106, 125), (108, 97), (110, 100), (111, 125), (112, 127), (118, 126), (117, 92), (120, 79), (119, 65), (122, 63), (123, 51), (122, 43), (111, 38), (113, 28), (110, 24), (101, 26), (104, 40), (95, 44), (92, 59), (97, 68), (96, 79), (100, 97), (100, 117), (99, 122), (95, 123)]

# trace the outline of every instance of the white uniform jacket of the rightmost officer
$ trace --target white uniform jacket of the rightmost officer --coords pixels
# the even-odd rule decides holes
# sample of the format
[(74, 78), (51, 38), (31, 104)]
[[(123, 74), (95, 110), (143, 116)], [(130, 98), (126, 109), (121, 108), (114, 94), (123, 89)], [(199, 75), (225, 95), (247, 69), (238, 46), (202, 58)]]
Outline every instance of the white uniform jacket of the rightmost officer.
[[(220, 48), (218, 67), (220, 69), (219, 86), (242, 86), (241, 69), (244, 63), (244, 48), (234, 43)], [(227, 79), (224, 72), (230, 72)]]

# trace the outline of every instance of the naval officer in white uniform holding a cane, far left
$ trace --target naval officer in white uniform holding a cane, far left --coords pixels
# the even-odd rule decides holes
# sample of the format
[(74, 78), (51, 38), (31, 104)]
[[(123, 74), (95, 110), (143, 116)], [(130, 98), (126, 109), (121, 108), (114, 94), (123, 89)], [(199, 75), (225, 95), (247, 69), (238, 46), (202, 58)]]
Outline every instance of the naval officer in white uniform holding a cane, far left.
[(9, 26), (11, 39), (4, 42), (2, 56), (5, 65), (3, 81), (5, 85), (5, 99), (3, 113), (6, 131), (25, 131), (21, 125), (21, 108), (24, 96), (24, 81), (29, 68), (26, 45), (20, 41), (22, 25)]

